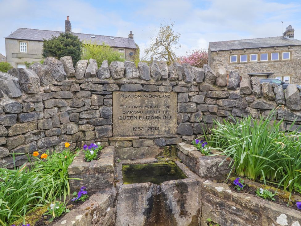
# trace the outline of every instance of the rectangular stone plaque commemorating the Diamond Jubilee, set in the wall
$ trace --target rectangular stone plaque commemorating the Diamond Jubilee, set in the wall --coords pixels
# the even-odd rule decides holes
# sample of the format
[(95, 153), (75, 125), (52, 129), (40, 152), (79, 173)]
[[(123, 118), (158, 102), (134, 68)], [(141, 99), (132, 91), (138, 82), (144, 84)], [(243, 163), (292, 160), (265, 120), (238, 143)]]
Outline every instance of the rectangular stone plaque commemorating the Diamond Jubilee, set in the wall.
[(177, 133), (177, 93), (113, 92), (113, 136)]

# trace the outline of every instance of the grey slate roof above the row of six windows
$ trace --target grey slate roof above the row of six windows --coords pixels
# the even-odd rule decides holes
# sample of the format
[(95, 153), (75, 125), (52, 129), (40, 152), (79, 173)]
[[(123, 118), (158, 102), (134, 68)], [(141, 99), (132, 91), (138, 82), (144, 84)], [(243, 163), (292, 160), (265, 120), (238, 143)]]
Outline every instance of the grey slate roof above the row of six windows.
[(278, 36), (278, 37), (270, 37), (270, 38), (209, 42), (210, 51), (287, 46), (287, 45), (301, 45), (301, 41), (297, 39), (286, 39), (283, 38), (282, 36)]

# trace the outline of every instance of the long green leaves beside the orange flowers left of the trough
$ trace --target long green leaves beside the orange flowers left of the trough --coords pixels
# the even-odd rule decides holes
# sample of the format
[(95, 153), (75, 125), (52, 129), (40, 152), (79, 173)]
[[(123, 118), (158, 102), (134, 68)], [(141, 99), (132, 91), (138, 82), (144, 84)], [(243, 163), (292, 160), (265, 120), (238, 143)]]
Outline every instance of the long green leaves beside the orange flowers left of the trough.
[[(29, 166), (0, 168), (0, 225), (25, 216), (26, 212), (70, 194), (68, 166), (75, 157), (69, 149), (53, 153), (45, 161), (36, 157)], [(30, 157), (29, 157), (30, 159)]]

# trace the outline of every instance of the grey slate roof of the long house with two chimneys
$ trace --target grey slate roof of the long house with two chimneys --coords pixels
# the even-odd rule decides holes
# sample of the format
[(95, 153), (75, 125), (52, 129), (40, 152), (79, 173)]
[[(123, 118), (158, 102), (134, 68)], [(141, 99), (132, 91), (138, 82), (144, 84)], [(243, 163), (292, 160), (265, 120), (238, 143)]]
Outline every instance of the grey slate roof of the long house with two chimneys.
[[(38, 29), (30, 29), (30, 28), (18, 28), (16, 31), (11, 33), (6, 38), (43, 41), (43, 39), (50, 39), (52, 38), (52, 36), (59, 36), (60, 33), (65, 33), (65, 32), (38, 30)], [(102, 44), (104, 42), (106, 45), (112, 47), (133, 48), (133, 49), (138, 48), (135, 41), (129, 38), (104, 36), (104, 35), (91, 35), (91, 34), (82, 34), (82, 33), (74, 33), (74, 32), (72, 32), (72, 34), (78, 36), (80, 41), (91, 40), (92, 43), (94, 43), (94, 41), (96, 41), (97, 44)], [(91, 36), (96, 36), (96, 37), (92, 38)], [(114, 39), (110, 39), (110, 37), (114, 37)]]

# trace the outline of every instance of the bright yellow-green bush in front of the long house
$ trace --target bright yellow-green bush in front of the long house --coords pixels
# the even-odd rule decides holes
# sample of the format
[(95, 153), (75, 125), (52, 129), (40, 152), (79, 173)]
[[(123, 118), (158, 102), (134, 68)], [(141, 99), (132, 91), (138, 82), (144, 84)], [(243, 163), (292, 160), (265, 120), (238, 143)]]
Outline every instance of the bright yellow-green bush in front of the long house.
[(98, 45), (96, 42), (84, 41), (82, 43), (83, 48), (83, 60), (94, 59), (97, 62), (97, 66), (100, 67), (102, 61), (108, 60), (108, 63), (112, 61), (124, 61), (123, 53), (120, 53), (114, 50), (109, 45), (106, 45), (104, 42), (102, 45)]

